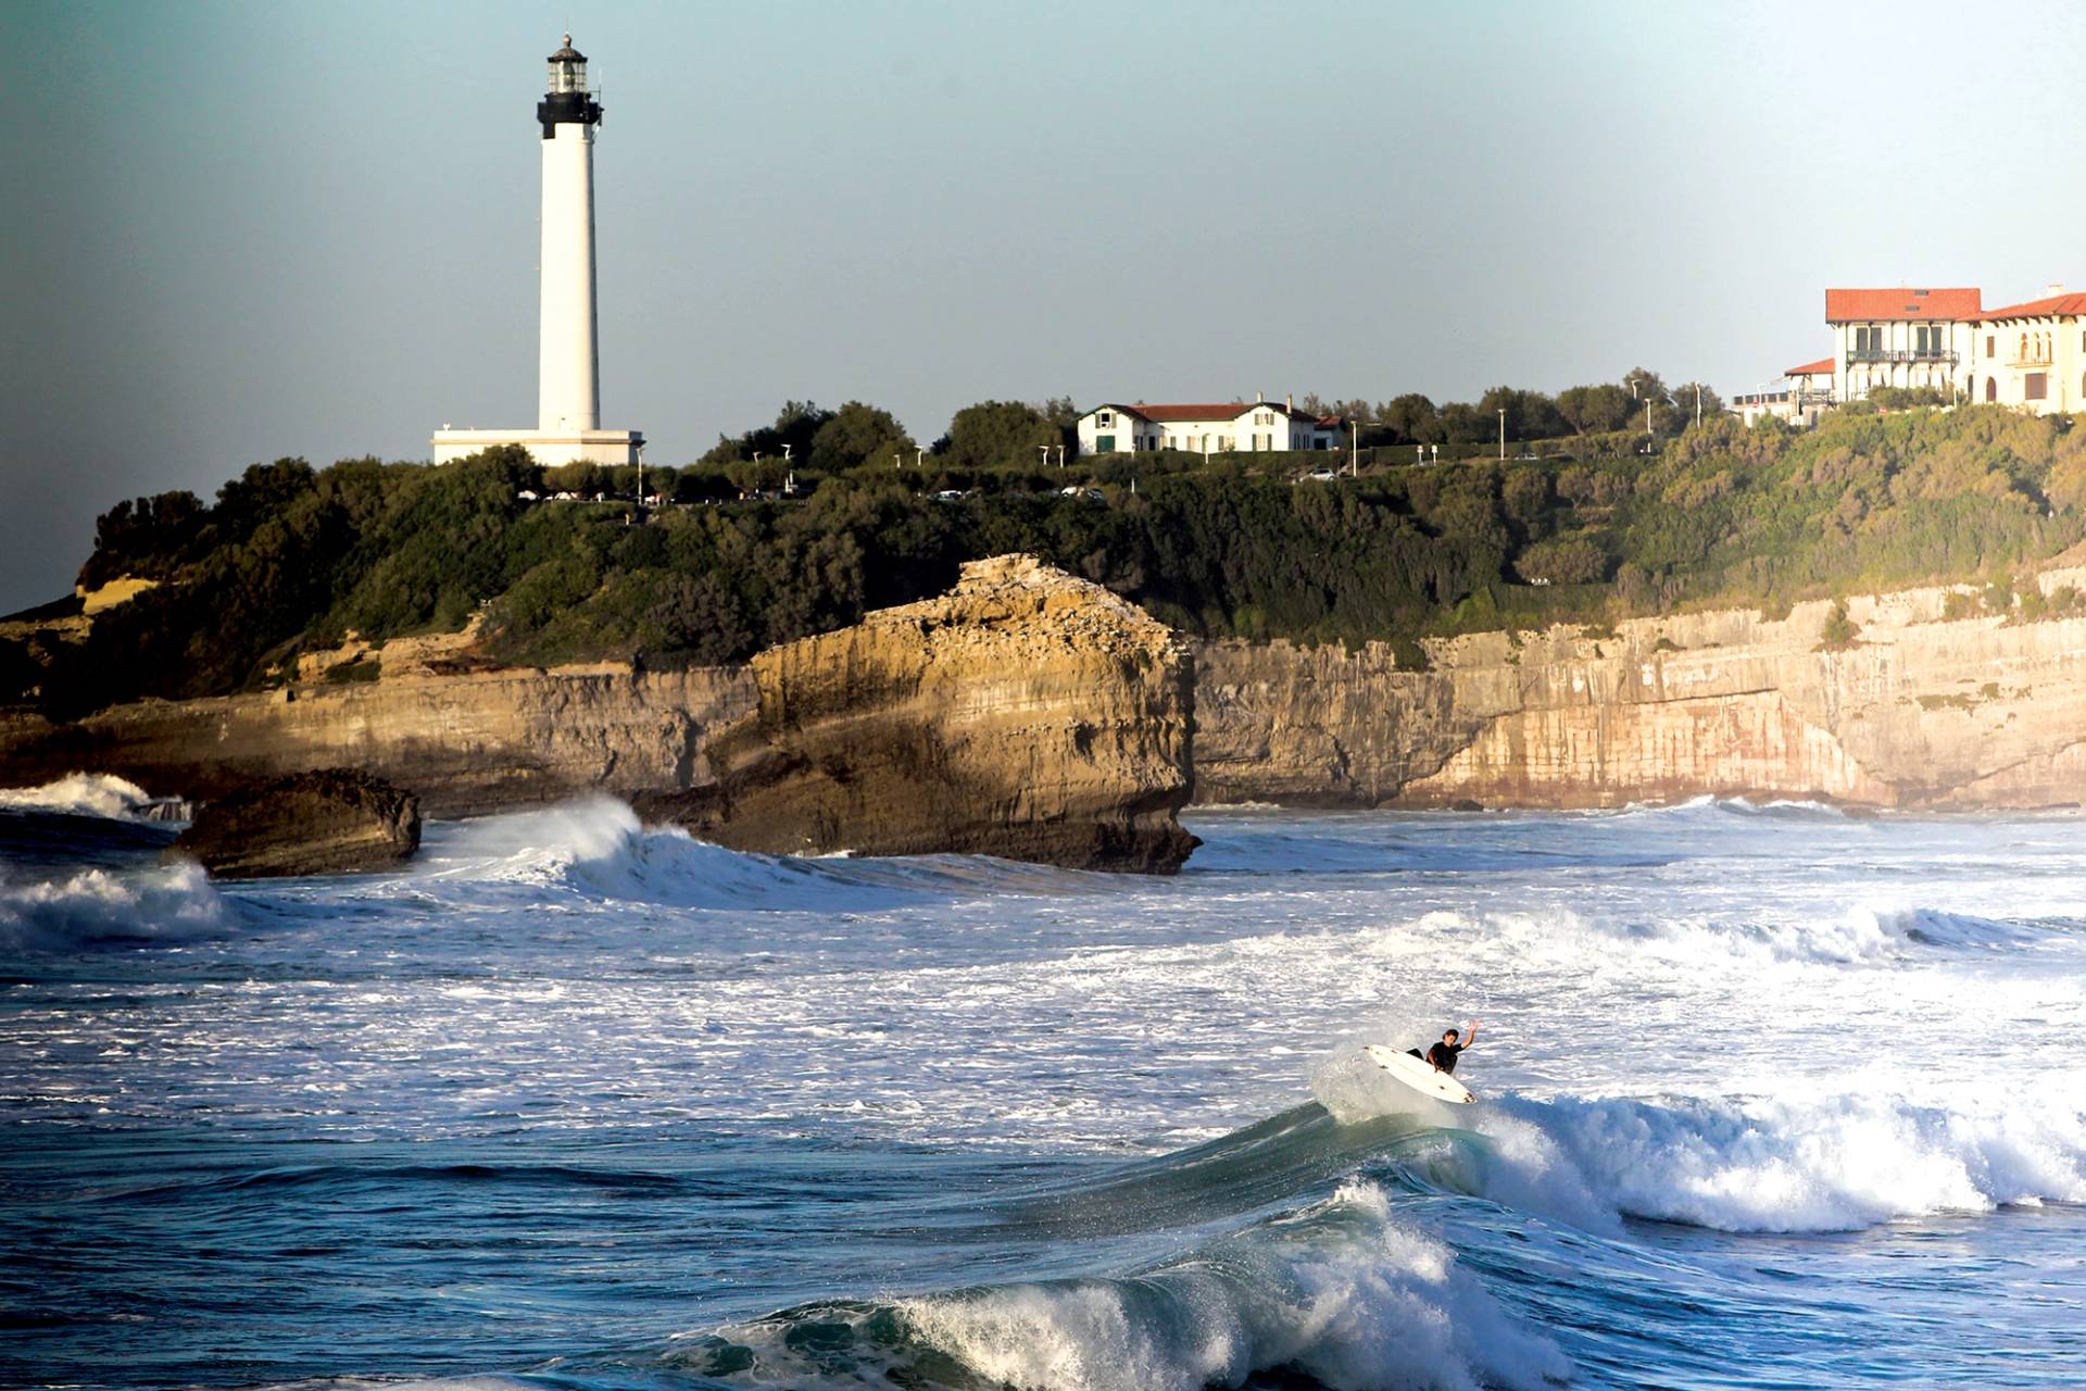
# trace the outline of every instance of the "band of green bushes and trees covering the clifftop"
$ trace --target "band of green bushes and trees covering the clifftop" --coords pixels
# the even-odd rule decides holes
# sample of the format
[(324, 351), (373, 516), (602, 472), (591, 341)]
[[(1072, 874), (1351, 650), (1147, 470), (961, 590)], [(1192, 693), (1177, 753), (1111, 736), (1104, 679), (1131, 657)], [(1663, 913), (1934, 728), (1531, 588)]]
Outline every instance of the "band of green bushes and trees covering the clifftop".
[[(350, 630), (455, 630), (480, 607), (509, 661), (718, 663), (939, 592), (962, 561), (1008, 551), (1204, 636), (1412, 651), (1502, 624), (1984, 580), (2086, 536), (2086, 432), (1992, 407), (1840, 413), (1811, 434), (1717, 417), (1656, 455), (1364, 465), (1337, 482), (1293, 482), (1325, 455), (1043, 469), (1022, 453), (1056, 430), (1043, 411), (972, 411), (914, 467), (887, 413), (793, 402), (772, 440), (649, 469), (647, 490), (678, 505), (642, 526), (630, 503), (522, 498), (634, 494), (634, 471), (547, 478), (513, 448), (444, 467), (288, 459), (213, 505), (123, 503), (81, 582), (161, 586), (98, 615), (42, 674), (46, 701), (254, 688)], [(782, 465), (770, 448), (793, 432), (803, 448)], [(797, 492), (774, 496), (791, 469)]]

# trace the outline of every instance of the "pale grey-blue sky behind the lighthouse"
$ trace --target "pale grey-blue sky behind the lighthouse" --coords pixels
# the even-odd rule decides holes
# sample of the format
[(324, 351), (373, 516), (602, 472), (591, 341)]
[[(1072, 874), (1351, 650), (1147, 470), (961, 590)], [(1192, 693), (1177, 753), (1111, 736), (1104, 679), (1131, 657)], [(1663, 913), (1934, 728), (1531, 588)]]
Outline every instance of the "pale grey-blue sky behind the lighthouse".
[(1744, 390), (1827, 284), (2086, 286), (2086, 8), (4, 10), (0, 611), (111, 503), (536, 415), (534, 102), (603, 88), (603, 425), (784, 398)]

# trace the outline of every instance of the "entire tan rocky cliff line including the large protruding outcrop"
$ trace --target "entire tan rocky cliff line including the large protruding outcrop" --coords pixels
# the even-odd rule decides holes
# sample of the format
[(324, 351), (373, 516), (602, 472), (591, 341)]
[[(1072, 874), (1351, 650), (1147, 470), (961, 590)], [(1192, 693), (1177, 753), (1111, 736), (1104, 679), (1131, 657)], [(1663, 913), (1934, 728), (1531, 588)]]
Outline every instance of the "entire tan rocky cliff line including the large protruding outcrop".
[[(2086, 588), (2086, 571), (2038, 582)], [(108, 772), (204, 801), (355, 767), (428, 815), (609, 792), (743, 849), (1129, 870), (1181, 863), (1189, 801), (2086, 803), (2086, 617), (1965, 615), (1969, 592), (1852, 596), (1834, 642), (1836, 607), (1806, 603), (1435, 640), (1410, 669), (1385, 644), (1187, 642), (999, 557), (743, 667), (488, 667), (448, 653), (459, 638), (411, 638), (344, 659), (378, 680), (321, 659), (265, 694), (0, 713), (0, 765), (10, 784)]]

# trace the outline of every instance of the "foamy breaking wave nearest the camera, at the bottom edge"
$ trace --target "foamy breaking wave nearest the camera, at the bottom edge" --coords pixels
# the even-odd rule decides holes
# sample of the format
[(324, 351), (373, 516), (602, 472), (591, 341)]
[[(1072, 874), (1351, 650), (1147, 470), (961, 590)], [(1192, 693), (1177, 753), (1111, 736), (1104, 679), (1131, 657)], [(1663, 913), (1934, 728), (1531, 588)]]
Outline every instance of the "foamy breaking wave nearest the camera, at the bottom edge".
[[(907, 1339), (884, 1345), (878, 1376), (905, 1368), (922, 1345), (989, 1383), (1053, 1391), (1202, 1391), (1285, 1366), (1337, 1391), (1539, 1387), (1571, 1372), (1446, 1243), (1396, 1218), (1364, 1180), (1133, 1274), (993, 1285), (893, 1308)], [(859, 1385), (872, 1368), (807, 1358), (789, 1333), (805, 1320), (872, 1316), (874, 1305), (828, 1305), (726, 1328), (724, 1339), (757, 1358), (763, 1385)]]

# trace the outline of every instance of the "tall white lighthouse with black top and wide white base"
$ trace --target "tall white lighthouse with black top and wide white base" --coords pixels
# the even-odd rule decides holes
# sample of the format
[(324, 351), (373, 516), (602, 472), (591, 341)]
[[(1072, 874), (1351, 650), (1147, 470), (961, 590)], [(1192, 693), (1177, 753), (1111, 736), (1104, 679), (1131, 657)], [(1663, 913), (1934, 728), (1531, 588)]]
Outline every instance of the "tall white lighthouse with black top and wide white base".
[(536, 430), (436, 430), (434, 461), (490, 444), (522, 444), (536, 463), (636, 463), (645, 436), (601, 428), (601, 350), (595, 319), (595, 129), (601, 102), (586, 86), (586, 54), (565, 35), (549, 58), (536, 102), (542, 127), (542, 311), (536, 359)]

